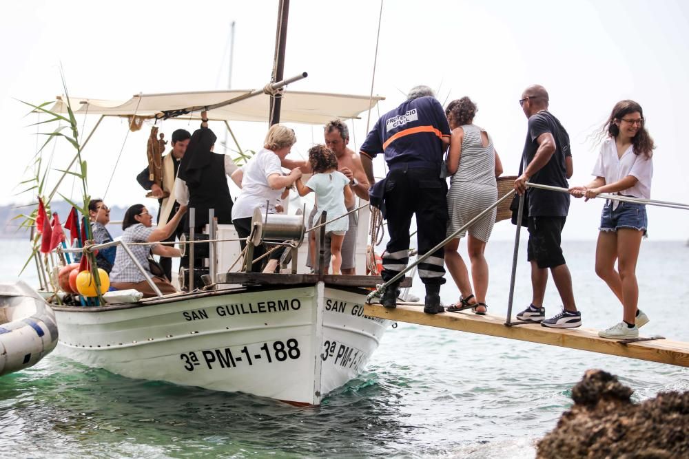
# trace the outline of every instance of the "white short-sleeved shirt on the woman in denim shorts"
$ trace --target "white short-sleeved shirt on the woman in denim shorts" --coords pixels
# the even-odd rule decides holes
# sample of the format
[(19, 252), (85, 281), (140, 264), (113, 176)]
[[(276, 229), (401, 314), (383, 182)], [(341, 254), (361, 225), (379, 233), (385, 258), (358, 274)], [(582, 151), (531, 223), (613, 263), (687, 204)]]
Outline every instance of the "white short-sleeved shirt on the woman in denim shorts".
[[(604, 178), (606, 184), (615, 183), (627, 175), (633, 175), (638, 180), (634, 186), (618, 191), (618, 193), (625, 196), (633, 196), (634, 198), (650, 199), (653, 161), (643, 153), (636, 155), (633, 148), (629, 147), (621, 158), (617, 158), (615, 138), (606, 138), (603, 145), (601, 145), (601, 151), (593, 167), (592, 175)], [(615, 207), (617, 207), (617, 202), (613, 205), (613, 208)]]

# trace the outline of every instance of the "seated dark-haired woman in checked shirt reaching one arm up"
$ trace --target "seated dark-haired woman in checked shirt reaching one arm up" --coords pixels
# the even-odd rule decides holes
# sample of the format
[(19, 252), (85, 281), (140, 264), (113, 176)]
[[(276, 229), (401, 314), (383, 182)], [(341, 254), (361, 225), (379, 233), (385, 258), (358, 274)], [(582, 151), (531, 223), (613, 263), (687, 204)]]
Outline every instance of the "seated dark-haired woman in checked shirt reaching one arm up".
[[(146, 207), (143, 204), (134, 204), (127, 209), (122, 221), (122, 229), (125, 231), (122, 235), (122, 242), (125, 244), (131, 244), (132, 242), (153, 243), (141, 246), (134, 245), (129, 248), (134, 258), (136, 258), (136, 261), (138, 261), (138, 264), (140, 264), (146, 274), (151, 277), (154, 284), (158, 286), (158, 289), (161, 290), (163, 295), (176, 293), (177, 290), (165, 277), (159, 277), (151, 273), (148, 257), (150, 253), (163, 255), (163, 257), (181, 257), (178, 248), (155, 243), (167, 239), (167, 237), (173, 233), (186, 211), (187, 206), (180, 206), (174, 217), (172, 217), (163, 228), (154, 228), (153, 217), (148, 213)], [(141, 270), (137, 268), (134, 260), (132, 260), (122, 246), (117, 246), (115, 263), (112, 266), (112, 273), (110, 273), (110, 285), (116, 290), (134, 288), (142, 292), (144, 298), (158, 296), (146, 281)]]

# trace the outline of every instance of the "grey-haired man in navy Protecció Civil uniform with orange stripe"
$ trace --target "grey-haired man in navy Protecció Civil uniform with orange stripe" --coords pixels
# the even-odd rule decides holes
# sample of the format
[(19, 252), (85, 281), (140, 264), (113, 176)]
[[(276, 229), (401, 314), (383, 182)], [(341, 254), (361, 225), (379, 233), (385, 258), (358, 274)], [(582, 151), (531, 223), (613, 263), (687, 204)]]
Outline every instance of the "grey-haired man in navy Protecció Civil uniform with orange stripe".
[[(407, 100), (380, 117), (360, 148), (361, 162), (369, 182), (374, 183), (373, 158), (384, 153), (390, 169), (387, 177), (371, 189), (371, 198), (382, 198), (390, 242), (382, 257), (384, 281), (392, 279), (409, 263), (409, 226), (416, 214), (418, 252), (426, 254), (446, 235), (447, 184), (440, 178), (444, 151), (450, 142), (450, 127), (433, 90), (411, 89)], [(372, 202), (373, 204), (373, 202)], [(424, 312), (443, 312), (440, 286), (444, 284), (444, 250), (440, 248), (420, 263), (419, 277), (426, 286)], [(400, 281), (382, 294), (386, 308), (397, 306)]]

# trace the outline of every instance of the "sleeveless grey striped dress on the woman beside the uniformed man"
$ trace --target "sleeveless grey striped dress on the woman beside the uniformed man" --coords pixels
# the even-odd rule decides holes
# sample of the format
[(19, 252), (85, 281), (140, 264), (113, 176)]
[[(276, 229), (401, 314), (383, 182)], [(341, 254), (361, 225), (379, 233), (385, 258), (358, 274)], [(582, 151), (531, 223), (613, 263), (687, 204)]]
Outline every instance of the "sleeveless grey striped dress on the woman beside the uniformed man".
[[(473, 217), (495, 204), (497, 183), (495, 182), (495, 150), (489, 136), (488, 146), (481, 141), (481, 129), (475, 125), (464, 125), (462, 154), (457, 172), (450, 178), (447, 192), (447, 235), (464, 226)], [(488, 242), (495, 224), (495, 209), (462, 231), (457, 237), (464, 237), (466, 231), (483, 242)]]

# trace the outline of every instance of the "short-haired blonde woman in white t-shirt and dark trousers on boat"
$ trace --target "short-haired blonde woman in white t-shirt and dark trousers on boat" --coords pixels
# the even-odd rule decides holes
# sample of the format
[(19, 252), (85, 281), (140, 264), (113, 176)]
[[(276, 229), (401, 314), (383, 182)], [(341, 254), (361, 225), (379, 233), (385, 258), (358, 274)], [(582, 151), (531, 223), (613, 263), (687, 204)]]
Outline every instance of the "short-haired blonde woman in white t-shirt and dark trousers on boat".
[[(296, 141), (292, 129), (283, 125), (272, 125), (265, 136), (263, 149), (232, 174), (232, 180), (242, 189), (232, 207), (232, 224), (240, 238), (246, 239), (251, 233), (254, 210), (261, 209), (261, 213), (265, 213), (266, 210), (268, 213), (276, 213), (275, 206), (282, 192), (301, 177), (298, 168), (292, 169), (289, 175), (282, 175), (280, 166), (280, 160), (289, 154)], [(244, 250), (246, 242), (240, 241), (240, 244)], [(264, 273), (274, 273), (282, 251), (275, 250), (269, 255)], [(264, 253), (265, 248), (257, 247), (254, 250), (254, 259)], [(251, 268), (252, 271), (259, 270), (254, 266)]]

